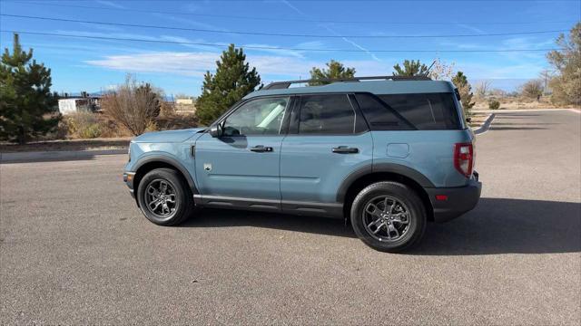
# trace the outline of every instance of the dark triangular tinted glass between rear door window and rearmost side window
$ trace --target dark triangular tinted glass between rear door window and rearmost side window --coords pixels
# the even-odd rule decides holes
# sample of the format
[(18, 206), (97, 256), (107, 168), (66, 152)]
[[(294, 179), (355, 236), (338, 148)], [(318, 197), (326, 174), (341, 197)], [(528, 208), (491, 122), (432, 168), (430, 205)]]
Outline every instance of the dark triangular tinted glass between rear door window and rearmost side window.
[(372, 130), (414, 130), (415, 128), (396, 110), (371, 94), (355, 94), (359, 108)]

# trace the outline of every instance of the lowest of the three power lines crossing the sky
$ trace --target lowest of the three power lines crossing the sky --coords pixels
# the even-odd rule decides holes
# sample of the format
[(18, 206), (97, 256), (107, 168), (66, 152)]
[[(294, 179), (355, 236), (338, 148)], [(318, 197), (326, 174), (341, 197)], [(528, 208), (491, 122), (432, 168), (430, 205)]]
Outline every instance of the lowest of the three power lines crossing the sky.
[[(169, 43), (169, 44), (183, 44), (183, 45), (200, 45), (200, 46), (215, 46), (226, 47), (225, 43), (192, 43), (192, 42), (178, 42), (166, 40), (144, 40), (136, 38), (122, 38), (122, 37), (106, 37), (106, 36), (90, 36), (90, 35), (74, 35), (74, 34), (54, 34), (43, 32), (30, 31), (14, 31), (14, 30), (0, 30), (2, 33), (16, 33), (16, 34), (34, 34), (44, 36), (56, 37), (72, 37), (85, 38), (95, 40), (113, 40), (113, 41), (129, 41), (129, 42), (143, 42), (143, 43)], [(293, 48), (293, 47), (274, 47), (274, 46), (257, 46), (257, 45), (240, 45), (245, 49), (254, 50), (288, 50), (288, 51), (304, 51), (304, 52), (342, 52), (342, 53), (514, 53), (514, 52), (548, 52), (558, 50), (556, 48), (547, 49), (499, 49), (499, 50), (355, 50), (355, 49), (312, 49), (312, 48)]]

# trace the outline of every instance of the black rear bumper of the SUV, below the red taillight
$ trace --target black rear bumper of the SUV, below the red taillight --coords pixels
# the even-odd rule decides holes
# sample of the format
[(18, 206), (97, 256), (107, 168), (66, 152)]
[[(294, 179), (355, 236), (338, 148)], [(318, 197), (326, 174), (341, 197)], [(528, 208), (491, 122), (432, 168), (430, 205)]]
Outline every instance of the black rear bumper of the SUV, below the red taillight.
[(434, 221), (446, 222), (468, 212), (478, 204), (481, 190), (478, 173), (465, 187), (426, 188), (434, 209)]

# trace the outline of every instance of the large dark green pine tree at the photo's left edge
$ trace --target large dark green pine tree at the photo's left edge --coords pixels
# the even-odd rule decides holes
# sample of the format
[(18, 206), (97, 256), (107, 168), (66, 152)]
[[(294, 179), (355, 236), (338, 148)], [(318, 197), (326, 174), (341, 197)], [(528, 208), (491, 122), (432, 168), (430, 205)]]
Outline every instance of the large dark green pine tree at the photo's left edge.
[(0, 62), (0, 139), (24, 144), (53, 130), (59, 119), (53, 115), (51, 70), (32, 59), (33, 49), (23, 51), (18, 34), (13, 46)]

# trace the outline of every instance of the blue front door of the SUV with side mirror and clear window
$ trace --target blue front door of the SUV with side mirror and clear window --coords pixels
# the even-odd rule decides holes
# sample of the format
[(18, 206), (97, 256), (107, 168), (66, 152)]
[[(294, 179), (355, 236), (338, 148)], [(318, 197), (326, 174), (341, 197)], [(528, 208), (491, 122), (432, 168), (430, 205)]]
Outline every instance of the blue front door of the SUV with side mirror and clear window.
[(195, 144), (196, 186), (204, 205), (279, 209), (282, 121), (289, 97), (246, 101), (220, 121), (222, 135)]

